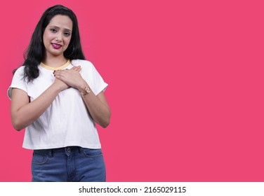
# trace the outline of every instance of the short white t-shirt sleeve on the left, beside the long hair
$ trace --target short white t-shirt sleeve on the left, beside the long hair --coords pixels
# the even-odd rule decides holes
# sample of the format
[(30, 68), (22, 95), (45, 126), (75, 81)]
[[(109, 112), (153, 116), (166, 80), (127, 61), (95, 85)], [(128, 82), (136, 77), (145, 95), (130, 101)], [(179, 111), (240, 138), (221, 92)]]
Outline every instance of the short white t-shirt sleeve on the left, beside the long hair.
[(12, 83), (11, 83), (10, 87), (8, 87), (7, 95), (9, 97), (9, 99), (12, 98), (11, 97), (11, 90), (13, 87), (19, 88), (19, 89), (27, 92), (27, 82), (23, 76), (24, 76), (24, 67), (21, 66), (20, 68), (18, 68), (15, 71), (15, 74), (14, 74), (13, 79), (12, 79)]

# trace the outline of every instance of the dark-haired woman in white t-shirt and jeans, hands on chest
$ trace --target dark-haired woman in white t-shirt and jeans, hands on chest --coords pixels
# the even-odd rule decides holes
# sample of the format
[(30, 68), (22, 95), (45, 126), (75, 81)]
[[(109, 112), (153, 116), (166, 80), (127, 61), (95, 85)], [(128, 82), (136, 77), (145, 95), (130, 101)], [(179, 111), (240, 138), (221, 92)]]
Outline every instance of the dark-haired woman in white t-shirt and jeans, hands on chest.
[(106, 87), (84, 58), (76, 15), (48, 8), (8, 89), (13, 127), (34, 150), (32, 181), (105, 181), (95, 123), (110, 123)]

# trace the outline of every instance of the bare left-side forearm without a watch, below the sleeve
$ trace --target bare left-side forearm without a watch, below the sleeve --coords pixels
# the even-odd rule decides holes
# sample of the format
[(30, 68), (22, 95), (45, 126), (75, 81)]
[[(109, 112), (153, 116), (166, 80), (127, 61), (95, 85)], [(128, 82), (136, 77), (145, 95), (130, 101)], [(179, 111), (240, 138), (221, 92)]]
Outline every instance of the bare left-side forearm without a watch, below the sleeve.
[(56, 85), (51, 85), (37, 99), (21, 106), (19, 109), (11, 104), (12, 123), (15, 130), (22, 130), (32, 124), (34, 120), (37, 120), (48, 109), (48, 106), (51, 105), (59, 92), (60, 89)]

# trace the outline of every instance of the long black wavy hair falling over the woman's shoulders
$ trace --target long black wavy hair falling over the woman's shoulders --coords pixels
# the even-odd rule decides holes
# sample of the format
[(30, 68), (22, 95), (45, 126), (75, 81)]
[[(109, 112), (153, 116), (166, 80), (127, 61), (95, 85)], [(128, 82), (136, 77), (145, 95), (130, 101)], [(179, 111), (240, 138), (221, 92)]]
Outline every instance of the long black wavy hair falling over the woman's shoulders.
[[(70, 60), (85, 59), (84, 53), (81, 49), (81, 40), (76, 15), (72, 10), (66, 8), (65, 6), (52, 6), (51, 8), (46, 9), (46, 11), (41, 16), (39, 22), (37, 23), (37, 27), (34, 29), (29, 46), (24, 54), (25, 61), (22, 66), (25, 66), (24, 78), (27, 78), (28, 82), (39, 77), (38, 66), (44, 59), (46, 51), (42, 41), (44, 30), (55, 15), (67, 15), (72, 20), (72, 38), (67, 49), (63, 52), (65, 58)], [(15, 73), (15, 71), (16, 69), (13, 71), (13, 73)]]

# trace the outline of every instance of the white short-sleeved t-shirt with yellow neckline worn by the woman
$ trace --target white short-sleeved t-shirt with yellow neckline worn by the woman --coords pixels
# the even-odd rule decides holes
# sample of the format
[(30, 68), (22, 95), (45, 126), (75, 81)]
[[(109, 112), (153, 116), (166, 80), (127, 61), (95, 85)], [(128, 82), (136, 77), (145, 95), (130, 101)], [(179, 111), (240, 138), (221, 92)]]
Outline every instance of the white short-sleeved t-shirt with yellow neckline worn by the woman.
[[(81, 66), (81, 76), (97, 95), (107, 87), (98, 71), (91, 62), (72, 60), (64, 69)], [(11, 99), (11, 88), (16, 87), (27, 92), (30, 102), (51, 86), (55, 80), (53, 70), (39, 65), (39, 77), (27, 83), (23, 79), (25, 66), (20, 66), (11, 86), (8, 97)], [(23, 148), (32, 150), (47, 148), (62, 148), (66, 146), (81, 146), (83, 148), (101, 148), (98, 132), (93, 119), (77, 89), (70, 87), (63, 90), (53, 100), (51, 106), (37, 119), (26, 127)]]

